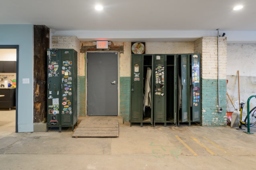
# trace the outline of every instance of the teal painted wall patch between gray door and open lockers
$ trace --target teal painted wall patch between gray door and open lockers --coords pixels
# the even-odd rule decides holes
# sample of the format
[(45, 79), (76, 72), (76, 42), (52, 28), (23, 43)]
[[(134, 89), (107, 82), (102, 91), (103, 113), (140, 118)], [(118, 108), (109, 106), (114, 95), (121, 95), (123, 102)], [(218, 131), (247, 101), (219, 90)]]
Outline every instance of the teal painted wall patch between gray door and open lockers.
[(129, 122), (130, 114), (130, 80), (131, 77), (120, 77), (120, 114), (124, 122)]

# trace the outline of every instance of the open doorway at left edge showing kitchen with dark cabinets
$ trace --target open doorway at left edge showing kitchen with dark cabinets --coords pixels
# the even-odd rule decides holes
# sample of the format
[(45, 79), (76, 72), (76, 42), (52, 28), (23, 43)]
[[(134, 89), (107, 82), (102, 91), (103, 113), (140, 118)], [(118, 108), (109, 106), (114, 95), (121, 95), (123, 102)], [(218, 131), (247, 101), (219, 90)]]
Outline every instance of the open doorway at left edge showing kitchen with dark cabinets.
[(1, 130), (18, 132), (18, 45), (0, 45)]

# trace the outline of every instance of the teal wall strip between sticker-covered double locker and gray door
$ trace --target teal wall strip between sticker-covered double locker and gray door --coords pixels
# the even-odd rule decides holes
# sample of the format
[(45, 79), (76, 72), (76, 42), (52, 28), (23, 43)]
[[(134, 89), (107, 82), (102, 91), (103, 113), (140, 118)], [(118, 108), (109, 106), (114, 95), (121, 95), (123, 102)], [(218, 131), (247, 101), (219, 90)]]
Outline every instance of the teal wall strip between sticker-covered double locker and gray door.
[(80, 116), (86, 116), (86, 110), (85, 110), (85, 76), (78, 76), (78, 82), (79, 82), (79, 93), (78, 93), (78, 113)]

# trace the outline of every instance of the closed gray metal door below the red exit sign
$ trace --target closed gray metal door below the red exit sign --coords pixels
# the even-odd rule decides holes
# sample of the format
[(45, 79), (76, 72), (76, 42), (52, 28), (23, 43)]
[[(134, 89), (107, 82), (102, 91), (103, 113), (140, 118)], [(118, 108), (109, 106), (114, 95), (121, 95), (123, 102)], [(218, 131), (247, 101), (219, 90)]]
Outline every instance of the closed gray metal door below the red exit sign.
[(87, 115), (117, 116), (117, 53), (88, 53), (87, 61)]

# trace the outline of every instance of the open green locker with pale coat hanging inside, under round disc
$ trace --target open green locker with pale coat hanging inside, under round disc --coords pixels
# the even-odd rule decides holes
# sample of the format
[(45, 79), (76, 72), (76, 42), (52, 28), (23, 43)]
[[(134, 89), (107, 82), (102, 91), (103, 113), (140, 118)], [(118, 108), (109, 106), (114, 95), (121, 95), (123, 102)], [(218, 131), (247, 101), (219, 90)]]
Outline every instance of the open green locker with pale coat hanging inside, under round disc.
[[(153, 55), (131, 56), (131, 102), (130, 126), (132, 123), (153, 125)], [(154, 82), (153, 82), (154, 83)]]

